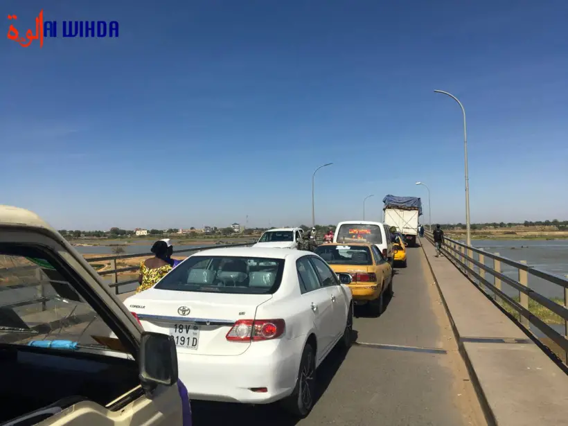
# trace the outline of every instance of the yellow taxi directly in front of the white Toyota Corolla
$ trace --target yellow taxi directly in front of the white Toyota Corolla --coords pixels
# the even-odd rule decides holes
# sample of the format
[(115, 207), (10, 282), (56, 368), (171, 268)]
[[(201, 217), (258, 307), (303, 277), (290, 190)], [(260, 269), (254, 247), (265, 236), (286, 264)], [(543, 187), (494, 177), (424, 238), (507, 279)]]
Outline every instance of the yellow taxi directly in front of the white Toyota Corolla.
[(375, 245), (332, 242), (318, 246), (315, 254), (336, 274), (351, 276), (349, 287), (355, 305), (366, 305), (372, 314), (382, 314), (385, 297), (393, 292), (393, 270)]

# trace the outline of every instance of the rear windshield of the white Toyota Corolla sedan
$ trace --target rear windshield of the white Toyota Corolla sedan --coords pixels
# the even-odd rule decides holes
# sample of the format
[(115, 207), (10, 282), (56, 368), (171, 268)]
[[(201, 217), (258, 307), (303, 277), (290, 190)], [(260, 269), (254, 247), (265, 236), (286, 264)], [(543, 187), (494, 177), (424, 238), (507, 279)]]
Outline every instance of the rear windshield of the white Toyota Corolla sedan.
[(272, 294), (282, 279), (284, 259), (191, 256), (154, 288), (181, 292)]

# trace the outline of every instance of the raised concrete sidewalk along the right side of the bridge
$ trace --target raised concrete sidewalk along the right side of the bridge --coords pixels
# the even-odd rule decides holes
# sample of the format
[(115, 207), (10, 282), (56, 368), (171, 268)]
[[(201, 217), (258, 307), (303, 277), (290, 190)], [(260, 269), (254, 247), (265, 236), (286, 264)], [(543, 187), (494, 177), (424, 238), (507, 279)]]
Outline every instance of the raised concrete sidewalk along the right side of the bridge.
[(420, 243), (459, 348), (490, 420), (500, 426), (568, 425), (568, 378), (431, 242)]

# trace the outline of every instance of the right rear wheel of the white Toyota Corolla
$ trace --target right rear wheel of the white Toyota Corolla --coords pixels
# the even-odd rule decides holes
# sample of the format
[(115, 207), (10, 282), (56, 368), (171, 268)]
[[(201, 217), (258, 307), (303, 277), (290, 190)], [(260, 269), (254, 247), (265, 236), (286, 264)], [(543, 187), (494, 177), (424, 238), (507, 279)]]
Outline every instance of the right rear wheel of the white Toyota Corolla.
[(300, 371), (292, 395), (283, 401), (284, 407), (294, 417), (304, 418), (314, 406), (316, 390), (316, 355), (312, 345), (305, 344), (300, 360)]

